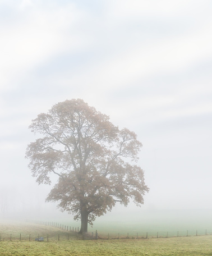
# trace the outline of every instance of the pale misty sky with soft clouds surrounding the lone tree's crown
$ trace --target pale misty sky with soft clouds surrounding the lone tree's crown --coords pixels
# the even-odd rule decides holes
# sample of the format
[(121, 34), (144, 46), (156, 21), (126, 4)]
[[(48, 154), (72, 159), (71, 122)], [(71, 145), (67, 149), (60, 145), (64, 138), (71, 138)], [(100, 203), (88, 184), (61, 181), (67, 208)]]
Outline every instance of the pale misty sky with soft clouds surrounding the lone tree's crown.
[(142, 209), (212, 209), (211, 13), (210, 0), (0, 0), (0, 203), (49, 207), (28, 126), (81, 98), (142, 142)]

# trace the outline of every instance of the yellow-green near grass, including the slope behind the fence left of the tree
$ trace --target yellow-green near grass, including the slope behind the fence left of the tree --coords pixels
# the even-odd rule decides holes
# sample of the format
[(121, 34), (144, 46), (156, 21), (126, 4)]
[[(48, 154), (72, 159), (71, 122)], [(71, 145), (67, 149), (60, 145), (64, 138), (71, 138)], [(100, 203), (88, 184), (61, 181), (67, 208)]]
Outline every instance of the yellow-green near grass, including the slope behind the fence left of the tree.
[[(0, 242), (0, 255), (35, 256), (35, 255), (212, 255), (212, 236), (185, 236), (158, 239), (119, 239), (119, 240), (76, 240), (76, 235), (58, 228), (33, 224), (0, 224), (4, 240)], [(29, 241), (29, 232), (31, 241)], [(10, 234), (13, 234), (10, 240)], [(21, 241), (19, 235), (21, 234)], [(43, 242), (34, 237), (44, 236)], [(47, 241), (49, 234), (49, 241)], [(57, 239), (58, 234), (63, 239)], [(80, 237), (79, 237), (80, 238)]]

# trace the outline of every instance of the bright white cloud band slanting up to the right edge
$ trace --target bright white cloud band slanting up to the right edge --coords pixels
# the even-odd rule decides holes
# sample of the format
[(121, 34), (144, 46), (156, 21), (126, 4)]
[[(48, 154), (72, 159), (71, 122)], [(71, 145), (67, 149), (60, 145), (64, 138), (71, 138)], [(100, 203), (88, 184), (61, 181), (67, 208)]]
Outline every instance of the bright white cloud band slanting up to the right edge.
[[(82, 67), (75, 76), (63, 76), (67, 83), (87, 84), (87, 90), (106, 92), (114, 87), (130, 85), (135, 81), (157, 74), (177, 74), (195, 66), (200, 61), (212, 57), (212, 36), (204, 31), (175, 38), (165, 38), (156, 42), (139, 43), (125, 52), (105, 57), (101, 63), (91, 63)], [(119, 42), (120, 43), (120, 42)], [(93, 65), (92, 65), (93, 64)]]

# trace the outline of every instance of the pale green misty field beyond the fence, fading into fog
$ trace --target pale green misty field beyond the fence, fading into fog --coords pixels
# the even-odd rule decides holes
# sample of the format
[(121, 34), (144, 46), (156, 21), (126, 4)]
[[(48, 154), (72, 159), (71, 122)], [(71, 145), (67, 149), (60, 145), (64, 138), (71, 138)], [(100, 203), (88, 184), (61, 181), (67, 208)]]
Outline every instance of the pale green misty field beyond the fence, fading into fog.
[[(146, 236), (148, 232), (148, 237), (156, 236), (186, 236), (188, 235), (198, 235), (207, 234), (212, 235), (212, 222), (211, 210), (158, 210), (158, 211), (139, 211), (133, 212), (133, 214), (127, 214), (126, 209), (122, 209), (121, 212), (116, 213), (116, 211), (110, 213), (108, 212), (105, 216), (96, 218), (94, 221), (94, 226), (89, 226), (89, 231), (95, 232), (98, 230), (99, 234), (109, 234), (109, 237), (127, 236), (136, 237), (137, 233), (139, 237)], [(125, 211), (124, 211), (125, 210)], [(70, 216), (62, 217), (57, 221), (58, 223), (64, 225), (71, 225), (74, 227), (80, 226), (80, 222), (72, 222)], [(45, 219), (44, 219), (45, 221)]]

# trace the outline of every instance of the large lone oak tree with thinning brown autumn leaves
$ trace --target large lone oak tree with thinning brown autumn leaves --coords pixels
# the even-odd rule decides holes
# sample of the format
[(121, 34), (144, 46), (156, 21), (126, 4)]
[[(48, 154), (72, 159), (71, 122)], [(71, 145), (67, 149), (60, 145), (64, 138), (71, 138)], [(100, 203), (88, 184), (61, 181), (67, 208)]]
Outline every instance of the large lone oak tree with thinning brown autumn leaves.
[(119, 130), (82, 99), (55, 104), (29, 128), (42, 135), (27, 146), (29, 168), (38, 184), (51, 184), (51, 174), (58, 176), (47, 201), (75, 214), (80, 232), (116, 202), (144, 203), (149, 188), (135, 164), (142, 146), (135, 132)]

